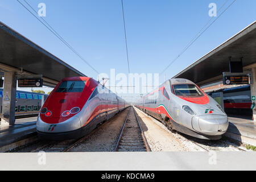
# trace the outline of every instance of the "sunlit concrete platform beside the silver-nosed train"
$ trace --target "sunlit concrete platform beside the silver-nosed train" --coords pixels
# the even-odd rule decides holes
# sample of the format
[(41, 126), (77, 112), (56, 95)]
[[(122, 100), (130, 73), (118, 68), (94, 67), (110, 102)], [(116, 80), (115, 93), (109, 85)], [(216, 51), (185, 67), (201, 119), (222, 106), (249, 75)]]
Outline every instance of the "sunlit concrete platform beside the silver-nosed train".
[(229, 128), (225, 136), (256, 146), (256, 122), (229, 117)]

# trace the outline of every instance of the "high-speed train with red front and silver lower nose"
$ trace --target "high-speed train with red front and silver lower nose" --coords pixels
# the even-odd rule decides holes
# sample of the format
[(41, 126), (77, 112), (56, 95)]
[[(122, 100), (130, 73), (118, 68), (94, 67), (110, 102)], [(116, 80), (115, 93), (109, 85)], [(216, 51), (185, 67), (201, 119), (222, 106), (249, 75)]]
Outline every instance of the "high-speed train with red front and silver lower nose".
[(46, 139), (80, 138), (127, 106), (93, 78), (64, 78), (44, 102), (36, 130)]

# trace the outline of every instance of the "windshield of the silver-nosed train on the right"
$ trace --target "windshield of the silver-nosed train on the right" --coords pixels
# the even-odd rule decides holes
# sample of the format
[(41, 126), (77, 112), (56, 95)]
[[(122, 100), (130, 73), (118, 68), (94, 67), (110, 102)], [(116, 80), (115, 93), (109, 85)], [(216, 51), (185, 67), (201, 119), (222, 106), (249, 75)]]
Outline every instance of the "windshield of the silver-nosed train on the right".
[(178, 84), (172, 85), (172, 88), (174, 89), (174, 94), (176, 96), (204, 96), (196, 85)]

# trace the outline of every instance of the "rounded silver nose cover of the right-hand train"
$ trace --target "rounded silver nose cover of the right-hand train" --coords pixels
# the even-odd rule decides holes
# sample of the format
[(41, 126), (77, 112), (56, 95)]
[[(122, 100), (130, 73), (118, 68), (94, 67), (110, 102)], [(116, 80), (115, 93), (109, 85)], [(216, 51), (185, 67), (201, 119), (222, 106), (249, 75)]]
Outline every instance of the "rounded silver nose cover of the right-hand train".
[(192, 118), (193, 129), (207, 135), (224, 134), (228, 126), (228, 117), (225, 115), (199, 115)]

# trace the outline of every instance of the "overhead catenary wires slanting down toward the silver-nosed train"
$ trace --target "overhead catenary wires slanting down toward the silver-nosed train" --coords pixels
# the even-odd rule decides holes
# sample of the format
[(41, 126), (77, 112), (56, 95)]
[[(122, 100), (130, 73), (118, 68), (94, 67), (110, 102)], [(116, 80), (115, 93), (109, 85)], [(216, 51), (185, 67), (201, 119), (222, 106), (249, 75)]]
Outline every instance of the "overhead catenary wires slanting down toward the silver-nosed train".
[[(214, 19), (212, 23), (209, 24), (209, 22), (214, 18), (214, 16), (213, 16), (213, 17), (207, 22), (207, 24), (209, 24), (209, 26), (208, 26), (207, 28), (205, 28), (205, 30), (204, 30), (203, 32), (201, 32), (201, 31), (204, 29), (204, 27), (207, 26), (207, 24), (205, 24), (204, 27), (201, 28), (201, 30), (200, 30), (201, 33), (199, 32), (198, 34), (196, 34), (195, 38), (193, 38), (193, 39), (191, 40), (191, 42), (189, 42), (189, 43), (187, 44), (187, 46), (185, 46), (184, 49), (179, 53), (179, 55), (177, 55), (177, 56), (175, 57), (175, 59), (172, 60), (171, 63), (168, 64), (168, 66), (163, 69), (163, 71), (160, 73), (160, 75), (162, 75), (177, 59), (179, 59), (179, 57), (180, 57), (185, 51), (187, 51), (187, 49), (188, 49), (201, 35), (203, 35), (204, 32), (207, 31), (208, 28), (209, 28), (210, 26), (212, 26), (212, 24), (213, 24), (214, 22), (216, 22), (216, 20), (217, 20), (218, 18), (220, 18), (221, 15), (224, 14), (225, 11), (228, 10), (229, 7), (232, 6), (235, 1), (236, 1), (236, 0), (234, 0), (232, 3), (230, 3), (230, 5), (229, 5), (228, 7), (226, 7), (226, 9), (225, 9), (224, 11), (222, 11), (222, 13), (221, 13), (219, 16), (217, 16), (217, 18)], [(226, 2), (228, 2), (228, 0), (227, 0)], [(224, 3), (224, 5), (226, 4), (226, 2)], [(221, 8), (222, 8), (224, 5), (222, 5)], [(221, 8), (220, 8), (220, 9), (221, 9)], [(219, 10), (220, 10), (220, 9), (219, 9)]]

